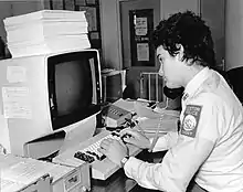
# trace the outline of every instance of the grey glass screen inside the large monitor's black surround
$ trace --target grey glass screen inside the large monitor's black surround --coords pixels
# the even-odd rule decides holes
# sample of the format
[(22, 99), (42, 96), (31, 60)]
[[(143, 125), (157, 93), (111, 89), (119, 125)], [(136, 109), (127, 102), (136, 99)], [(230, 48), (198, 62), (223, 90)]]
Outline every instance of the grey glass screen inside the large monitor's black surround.
[(56, 116), (85, 110), (92, 104), (93, 83), (87, 58), (55, 65)]

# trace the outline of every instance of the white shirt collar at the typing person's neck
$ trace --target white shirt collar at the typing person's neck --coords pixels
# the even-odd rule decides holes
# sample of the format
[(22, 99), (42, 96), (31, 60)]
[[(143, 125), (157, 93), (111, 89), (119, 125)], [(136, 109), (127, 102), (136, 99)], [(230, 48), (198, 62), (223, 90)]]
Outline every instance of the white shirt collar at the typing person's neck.
[(186, 100), (188, 97), (193, 96), (200, 85), (208, 78), (209, 71), (209, 67), (204, 67), (188, 83), (184, 88), (184, 94), (182, 97), (183, 100)]

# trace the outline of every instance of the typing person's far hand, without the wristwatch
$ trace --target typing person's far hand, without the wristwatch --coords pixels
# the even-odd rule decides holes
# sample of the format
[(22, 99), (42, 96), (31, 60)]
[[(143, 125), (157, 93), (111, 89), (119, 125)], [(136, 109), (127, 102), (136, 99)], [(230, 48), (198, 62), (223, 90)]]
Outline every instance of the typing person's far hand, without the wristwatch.
[(149, 139), (141, 132), (136, 129), (126, 128), (120, 131), (120, 137), (128, 135), (129, 137), (124, 137), (124, 141), (127, 143), (131, 143), (141, 149), (150, 148)]

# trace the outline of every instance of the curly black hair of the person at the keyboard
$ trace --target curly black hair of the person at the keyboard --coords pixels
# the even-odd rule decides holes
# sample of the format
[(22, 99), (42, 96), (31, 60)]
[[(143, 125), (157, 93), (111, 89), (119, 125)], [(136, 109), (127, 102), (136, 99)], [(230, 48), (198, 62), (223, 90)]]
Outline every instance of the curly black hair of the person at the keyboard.
[(176, 56), (181, 44), (184, 49), (182, 61), (190, 62), (190, 65), (215, 65), (210, 28), (191, 11), (178, 12), (160, 21), (154, 31), (152, 43), (156, 49), (162, 45), (171, 56)]

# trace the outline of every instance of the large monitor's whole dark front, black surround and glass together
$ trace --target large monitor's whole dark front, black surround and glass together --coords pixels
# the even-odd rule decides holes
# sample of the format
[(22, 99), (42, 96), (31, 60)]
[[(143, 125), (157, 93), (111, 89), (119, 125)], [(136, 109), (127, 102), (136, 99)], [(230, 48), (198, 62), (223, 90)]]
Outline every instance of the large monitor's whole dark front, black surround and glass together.
[[(77, 52), (50, 57), (49, 94), (53, 129), (59, 129), (99, 110), (97, 54)], [(99, 100), (101, 98), (95, 98)]]

